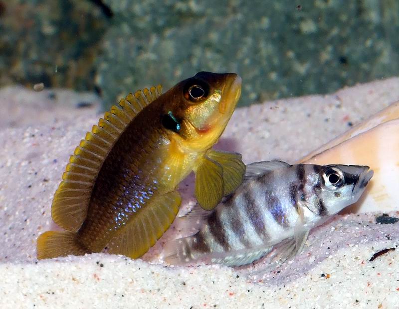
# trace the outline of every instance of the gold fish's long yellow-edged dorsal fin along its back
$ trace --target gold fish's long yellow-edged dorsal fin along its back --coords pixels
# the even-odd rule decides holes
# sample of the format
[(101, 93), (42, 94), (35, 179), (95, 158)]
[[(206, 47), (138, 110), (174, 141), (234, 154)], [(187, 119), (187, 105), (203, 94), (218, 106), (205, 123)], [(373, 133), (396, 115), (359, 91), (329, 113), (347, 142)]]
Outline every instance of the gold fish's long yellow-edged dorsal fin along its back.
[(100, 118), (75, 148), (54, 194), (51, 216), (54, 222), (68, 231), (82, 225), (89, 205), (91, 191), (105, 158), (121, 133), (148, 104), (162, 94), (162, 87), (151, 87), (129, 94)]

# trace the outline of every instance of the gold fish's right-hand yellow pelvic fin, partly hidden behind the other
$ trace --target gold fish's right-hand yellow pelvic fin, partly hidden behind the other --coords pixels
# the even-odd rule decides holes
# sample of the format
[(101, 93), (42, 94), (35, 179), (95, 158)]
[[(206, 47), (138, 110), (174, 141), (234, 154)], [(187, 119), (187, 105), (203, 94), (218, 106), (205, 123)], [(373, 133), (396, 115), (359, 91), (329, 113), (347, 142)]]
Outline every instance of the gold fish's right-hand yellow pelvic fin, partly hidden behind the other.
[(241, 160), (241, 154), (210, 150), (207, 157), (219, 163), (223, 168), (223, 195), (233, 193), (241, 185), (244, 178), (245, 164)]

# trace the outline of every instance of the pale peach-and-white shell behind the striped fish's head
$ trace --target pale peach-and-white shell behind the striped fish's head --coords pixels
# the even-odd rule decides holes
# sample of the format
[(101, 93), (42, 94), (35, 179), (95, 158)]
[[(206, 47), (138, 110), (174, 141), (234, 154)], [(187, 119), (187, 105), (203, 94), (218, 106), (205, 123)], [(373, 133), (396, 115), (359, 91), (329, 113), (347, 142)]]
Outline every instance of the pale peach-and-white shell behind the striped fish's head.
[(368, 165), (374, 170), (355, 212), (399, 210), (399, 102), (313, 151), (299, 162)]

